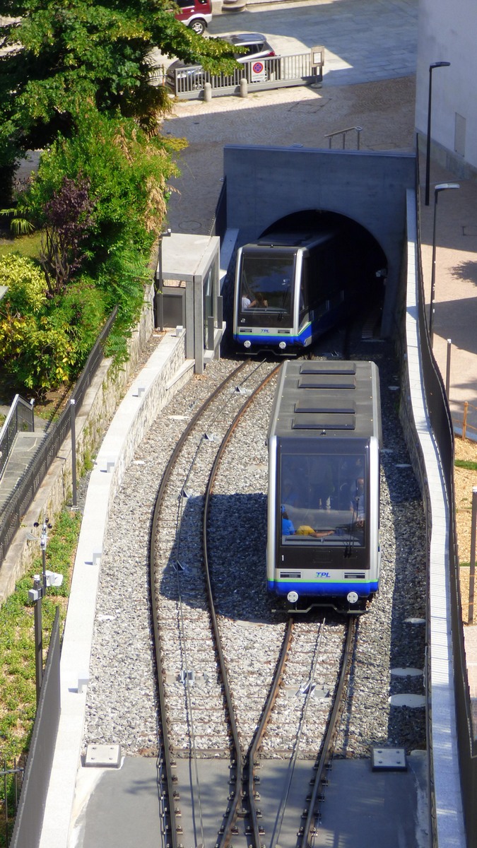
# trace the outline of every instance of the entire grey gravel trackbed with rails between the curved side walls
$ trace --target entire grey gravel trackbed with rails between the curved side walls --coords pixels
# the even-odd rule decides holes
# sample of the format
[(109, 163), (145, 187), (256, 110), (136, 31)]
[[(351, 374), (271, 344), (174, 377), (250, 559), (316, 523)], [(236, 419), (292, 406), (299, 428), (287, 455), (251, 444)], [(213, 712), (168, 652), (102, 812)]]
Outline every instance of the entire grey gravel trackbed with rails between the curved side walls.
[[(422, 631), (415, 622), (422, 616), (424, 599), (421, 551), (425, 535), (419, 494), (412, 469), (406, 465), (396, 418), (398, 379), (392, 365), (384, 363), (381, 349), (377, 354), (386, 445), (381, 469), (383, 572), (379, 594), (369, 614), (360, 619), (356, 636), (351, 696), (336, 742), (335, 756), (346, 760), (369, 757), (372, 745), (413, 750), (425, 741), (423, 711), (393, 707), (389, 697), (421, 691), (419, 678), (395, 676), (392, 670), (416, 669), (422, 663)], [(118, 742), (131, 756), (155, 757), (159, 750), (163, 845), (302, 848), (307, 840), (311, 845), (326, 840), (323, 830), (313, 838), (323, 783), (317, 782), (313, 800), (315, 782), (310, 781), (316, 778), (317, 756), (324, 750), (323, 736), (347, 637), (344, 622), (328, 613), (324, 624), (318, 617), (296, 621), (278, 682), (275, 672), (287, 622), (264, 588), (264, 441), (273, 380), (255, 395), (230, 434), (204, 519), (206, 482), (218, 446), (249, 399), (250, 383), (258, 386), (272, 365), (260, 365), (258, 370), (256, 363), (243, 365), (222, 390), (215, 411), (210, 407), (206, 417), (199, 416), (195, 435), (185, 439), (186, 453), (179, 443), (185, 444), (182, 430), (195, 410), (235, 365), (226, 360), (210, 365), (207, 377), (194, 378), (177, 395), (144, 439), (115, 499), (102, 563), (84, 741), (85, 745)], [(191, 470), (195, 454), (196, 465), (204, 466), (200, 471)], [(164, 639), (163, 648), (158, 648), (164, 690), (158, 698), (152, 676), (150, 592), (143, 590), (143, 577), (149, 562), (155, 562), (155, 554), (150, 559), (147, 549), (146, 527), (166, 466), (176, 467), (176, 481), (175, 488), (165, 488), (161, 494), (159, 529), (154, 532), (161, 564), (160, 572), (155, 568), (153, 572), (154, 598), (164, 603), (162, 610), (159, 604), (153, 608)], [(218, 672), (216, 637), (210, 628), (204, 521), (218, 639), (231, 693), (229, 708)], [(133, 587), (132, 592), (125, 592), (125, 586)], [(182, 646), (181, 632), (188, 634)], [(126, 685), (121, 685), (118, 673), (124, 667)], [(186, 673), (181, 677), (181, 672)], [(266, 717), (273, 686), (275, 704)], [(229, 716), (236, 724), (235, 743)], [(265, 730), (259, 735), (262, 720)], [(340, 768), (330, 780), (327, 793), (332, 796), (334, 776), (339, 773)], [(309, 813), (310, 835), (306, 836)], [(151, 823), (154, 832), (157, 827), (157, 822)]]

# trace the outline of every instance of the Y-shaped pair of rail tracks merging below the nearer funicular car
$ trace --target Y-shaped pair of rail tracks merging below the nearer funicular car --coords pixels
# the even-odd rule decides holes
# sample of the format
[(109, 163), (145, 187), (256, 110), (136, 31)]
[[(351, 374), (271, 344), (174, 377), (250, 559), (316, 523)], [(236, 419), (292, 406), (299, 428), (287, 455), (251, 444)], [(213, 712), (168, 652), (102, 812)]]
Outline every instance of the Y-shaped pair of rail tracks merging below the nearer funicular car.
[[(222, 456), (239, 422), (277, 369), (267, 370), (257, 382), (260, 367), (240, 365), (203, 404), (177, 443), (154, 510), (150, 563), (162, 727), (160, 799), (163, 833), (172, 848), (184, 844), (184, 839), (193, 845), (207, 845), (210, 839), (214, 845), (229, 845), (232, 840), (255, 848), (277, 844), (283, 820), (289, 816), (290, 792), (295, 791), (295, 762), (298, 757), (314, 762), (323, 747), (320, 740), (326, 735), (340, 673), (337, 647), (343, 645), (345, 626), (335, 622), (327, 627), (323, 620), (300, 622), (292, 638), (294, 622), (290, 621), (268, 695), (264, 698), (262, 692), (255, 705), (260, 720), (248, 738), (249, 709), (240, 704), (231, 685), (233, 639), (227, 638), (227, 624), (233, 622), (216, 611), (214, 572), (217, 577), (220, 564), (210, 562), (214, 555), (210, 556), (209, 538), (214, 529), (212, 492)], [(238, 377), (243, 377), (240, 385), (234, 382)], [(228, 394), (225, 399), (224, 393)], [(236, 406), (239, 410), (225, 427)], [(210, 451), (204, 494), (197, 493), (199, 480), (194, 477), (199, 450)], [(191, 533), (197, 534), (192, 544), (194, 561), (190, 561)], [(188, 537), (187, 562), (182, 561), (182, 534)], [(273, 779), (280, 802), (278, 809), (273, 805), (267, 810), (266, 829), (257, 769), (276, 758), (289, 765), (278, 780), (278, 794), (277, 778)], [(291, 810), (292, 829), (300, 832), (295, 802)], [(301, 828), (303, 845), (312, 823), (311, 816), (308, 828)], [(267, 831), (271, 842), (264, 842)]]

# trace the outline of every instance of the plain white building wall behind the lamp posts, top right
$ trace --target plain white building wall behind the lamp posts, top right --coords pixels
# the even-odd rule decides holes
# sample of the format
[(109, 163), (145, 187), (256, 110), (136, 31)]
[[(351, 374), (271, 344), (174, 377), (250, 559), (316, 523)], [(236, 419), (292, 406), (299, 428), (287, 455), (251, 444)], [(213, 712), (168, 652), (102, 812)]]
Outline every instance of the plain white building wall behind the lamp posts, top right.
[(457, 176), (477, 177), (477, 3), (419, 0), (416, 129), (425, 144), (429, 65), (432, 72), (431, 156)]

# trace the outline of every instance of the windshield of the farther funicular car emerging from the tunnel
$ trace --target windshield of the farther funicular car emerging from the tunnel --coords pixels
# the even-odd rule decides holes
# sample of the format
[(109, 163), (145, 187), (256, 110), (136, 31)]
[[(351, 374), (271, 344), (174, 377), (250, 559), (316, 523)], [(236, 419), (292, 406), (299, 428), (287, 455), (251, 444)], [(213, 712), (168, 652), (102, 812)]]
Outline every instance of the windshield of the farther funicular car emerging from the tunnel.
[(271, 248), (266, 254), (249, 253), (244, 248), (239, 293), (241, 323), (292, 326), (294, 277), (295, 253), (271, 252)]

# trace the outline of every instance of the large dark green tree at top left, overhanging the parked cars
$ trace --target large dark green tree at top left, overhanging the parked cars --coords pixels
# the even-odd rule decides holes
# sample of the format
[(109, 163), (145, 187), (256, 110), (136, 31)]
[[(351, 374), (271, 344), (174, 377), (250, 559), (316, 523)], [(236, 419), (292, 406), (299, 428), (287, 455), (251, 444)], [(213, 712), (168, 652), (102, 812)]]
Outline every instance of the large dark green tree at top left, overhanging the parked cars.
[[(233, 48), (198, 36), (172, 0), (4, 0), (14, 16), (0, 47), (0, 165), (67, 137), (85, 103), (132, 117), (149, 133), (169, 108), (151, 52), (231, 70)], [(225, 62), (225, 64), (224, 64)]]

